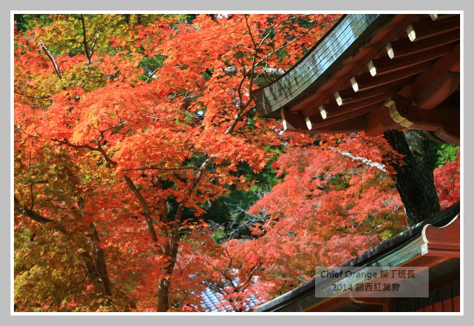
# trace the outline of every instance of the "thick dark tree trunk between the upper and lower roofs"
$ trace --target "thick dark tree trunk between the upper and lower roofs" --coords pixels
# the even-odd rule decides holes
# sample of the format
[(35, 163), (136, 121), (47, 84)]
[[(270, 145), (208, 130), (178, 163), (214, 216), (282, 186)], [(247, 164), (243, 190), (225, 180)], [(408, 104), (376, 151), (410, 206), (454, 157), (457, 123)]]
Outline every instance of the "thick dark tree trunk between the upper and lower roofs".
[(388, 130), (383, 133), (393, 149), (403, 154), (404, 163), (386, 161), (397, 171), (392, 178), (405, 206), (408, 226), (429, 218), (440, 211), (438, 194), (434, 187), (429, 138), (422, 131), (410, 129), (405, 133)]

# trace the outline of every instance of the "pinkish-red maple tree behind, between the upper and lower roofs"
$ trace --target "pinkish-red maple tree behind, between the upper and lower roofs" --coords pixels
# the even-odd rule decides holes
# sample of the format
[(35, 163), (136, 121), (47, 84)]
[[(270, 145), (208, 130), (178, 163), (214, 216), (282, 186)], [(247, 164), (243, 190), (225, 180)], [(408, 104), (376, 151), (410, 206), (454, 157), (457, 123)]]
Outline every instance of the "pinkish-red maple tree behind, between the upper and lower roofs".
[[(316, 142), (301, 145), (286, 147), (274, 163), (283, 179), (249, 210), (257, 221), (250, 228), (254, 239), (241, 239), (232, 251), (224, 244), (221, 267), (212, 265), (223, 279), (233, 271), (236, 279), (254, 277), (245, 289), (227, 288), (233, 294), (222, 295), (227, 307), (235, 306), (232, 299), (245, 292), (245, 298), (260, 302), (282, 295), (312, 279), (315, 267), (339, 266), (408, 226), (390, 177), (396, 174), (393, 163), (403, 164), (403, 156), (385, 138), (320, 135)], [(441, 207), (459, 202), (459, 150), (454, 161), (434, 170), (434, 181)], [(248, 265), (254, 262), (251, 273), (242, 274), (242, 256)]]

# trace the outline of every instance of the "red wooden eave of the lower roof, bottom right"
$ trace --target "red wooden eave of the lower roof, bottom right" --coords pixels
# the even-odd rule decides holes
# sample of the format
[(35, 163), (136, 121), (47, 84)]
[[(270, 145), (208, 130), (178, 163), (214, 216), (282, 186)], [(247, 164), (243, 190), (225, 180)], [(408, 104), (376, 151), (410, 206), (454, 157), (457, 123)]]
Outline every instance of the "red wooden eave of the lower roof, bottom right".
[[(418, 223), (413, 228), (392, 237), (379, 246), (358, 255), (343, 267), (429, 267), (429, 279), (459, 272), (460, 204), (445, 209)], [(453, 267), (454, 266), (454, 267)], [(321, 278), (287, 292), (256, 311), (355, 311), (365, 306), (381, 304), (388, 307), (390, 298), (315, 297), (319, 291), (330, 292), (330, 284)], [(374, 301), (371, 302), (370, 300)], [(344, 308), (345, 307), (345, 308)]]

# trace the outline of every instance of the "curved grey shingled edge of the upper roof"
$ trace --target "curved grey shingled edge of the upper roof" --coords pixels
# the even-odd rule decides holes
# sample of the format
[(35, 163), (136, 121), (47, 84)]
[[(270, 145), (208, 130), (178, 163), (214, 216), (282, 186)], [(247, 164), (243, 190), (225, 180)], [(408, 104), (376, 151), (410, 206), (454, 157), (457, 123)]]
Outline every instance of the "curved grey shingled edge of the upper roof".
[(277, 117), (275, 111), (315, 89), (326, 78), (349, 63), (365, 48), (369, 37), (396, 15), (344, 15), (298, 64), (275, 82), (252, 91), (257, 111), (263, 117)]

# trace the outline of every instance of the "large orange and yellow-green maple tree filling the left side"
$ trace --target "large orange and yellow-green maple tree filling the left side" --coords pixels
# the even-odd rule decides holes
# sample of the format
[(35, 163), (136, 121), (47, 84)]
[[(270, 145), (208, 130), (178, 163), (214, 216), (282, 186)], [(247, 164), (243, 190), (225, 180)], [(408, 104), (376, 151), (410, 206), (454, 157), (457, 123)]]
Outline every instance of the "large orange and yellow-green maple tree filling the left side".
[(49, 15), (15, 29), (17, 309), (199, 310), (198, 257), (215, 246), (199, 218), (252, 184), (239, 163), (261, 171), (282, 141), (250, 91), (335, 19)]

